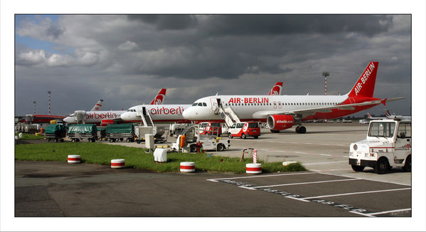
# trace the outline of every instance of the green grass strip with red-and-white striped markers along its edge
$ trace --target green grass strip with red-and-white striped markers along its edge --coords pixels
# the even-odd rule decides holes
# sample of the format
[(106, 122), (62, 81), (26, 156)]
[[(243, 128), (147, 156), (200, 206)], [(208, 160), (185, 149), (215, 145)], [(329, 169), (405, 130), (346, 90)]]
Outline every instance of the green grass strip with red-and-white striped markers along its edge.
[[(110, 165), (111, 159), (125, 159), (126, 167), (152, 172), (179, 172), (180, 162), (195, 162), (196, 171), (245, 173), (245, 164), (252, 159), (216, 157), (205, 153), (168, 153), (166, 163), (154, 162), (154, 155), (137, 147), (124, 147), (102, 143), (64, 142), (43, 144), (16, 144), (15, 159), (31, 161), (67, 162), (68, 154), (80, 154), (87, 164)], [(260, 161), (262, 163), (262, 161)], [(306, 171), (299, 163), (282, 167), (282, 162), (262, 163), (262, 172)]]

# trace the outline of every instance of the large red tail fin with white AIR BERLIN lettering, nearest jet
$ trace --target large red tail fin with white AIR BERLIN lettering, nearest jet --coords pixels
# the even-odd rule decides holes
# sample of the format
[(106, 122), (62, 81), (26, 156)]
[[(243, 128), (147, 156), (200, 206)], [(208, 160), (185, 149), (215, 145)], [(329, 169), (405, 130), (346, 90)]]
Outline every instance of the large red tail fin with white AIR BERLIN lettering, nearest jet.
[(367, 65), (361, 77), (356, 81), (349, 97), (373, 97), (374, 85), (376, 84), (376, 75), (378, 70), (378, 62), (372, 61)]

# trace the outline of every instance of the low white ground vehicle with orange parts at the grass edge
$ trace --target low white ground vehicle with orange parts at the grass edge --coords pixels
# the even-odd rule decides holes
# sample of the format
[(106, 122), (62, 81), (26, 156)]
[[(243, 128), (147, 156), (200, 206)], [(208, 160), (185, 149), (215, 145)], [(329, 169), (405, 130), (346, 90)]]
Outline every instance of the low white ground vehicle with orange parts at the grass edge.
[(230, 147), (229, 139), (215, 135), (201, 135), (198, 125), (186, 128), (176, 142), (171, 144), (171, 149), (177, 152), (199, 152), (201, 149), (222, 152), (228, 147)]

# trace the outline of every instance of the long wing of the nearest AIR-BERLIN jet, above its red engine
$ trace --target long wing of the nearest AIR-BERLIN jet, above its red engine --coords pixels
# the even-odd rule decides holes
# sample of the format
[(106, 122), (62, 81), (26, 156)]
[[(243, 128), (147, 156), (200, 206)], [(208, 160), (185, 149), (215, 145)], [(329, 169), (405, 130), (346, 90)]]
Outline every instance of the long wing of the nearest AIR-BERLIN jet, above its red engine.
[(346, 104), (346, 105), (332, 105), (332, 106), (326, 106), (326, 107), (316, 107), (316, 108), (291, 110), (291, 111), (262, 110), (262, 111), (255, 112), (253, 114), (253, 117), (259, 118), (259, 117), (267, 117), (268, 115), (294, 115), (294, 116), (304, 118), (309, 115), (315, 115), (316, 112), (331, 112), (331, 110), (333, 109), (353, 110), (355, 106), (363, 106), (363, 105), (379, 105), (379, 104), (385, 105), (385, 102), (392, 102), (395, 100), (401, 100), (403, 98), (405, 97), (395, 97), (390, 99), (383, 99), (383, 100), (379, 99), (379, 100), (352, 103), (352, 104)]

